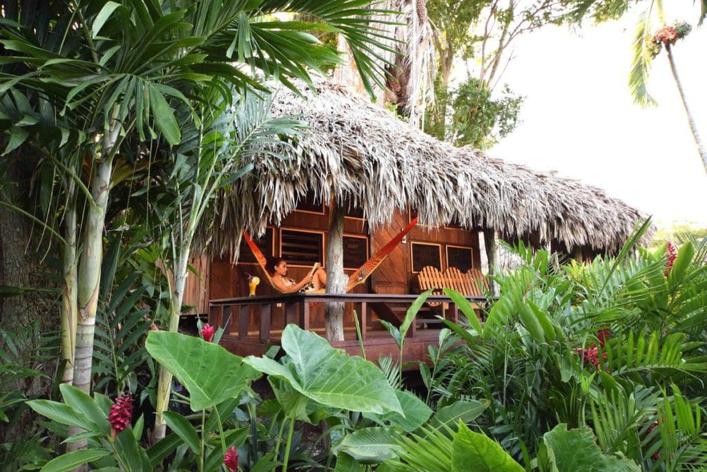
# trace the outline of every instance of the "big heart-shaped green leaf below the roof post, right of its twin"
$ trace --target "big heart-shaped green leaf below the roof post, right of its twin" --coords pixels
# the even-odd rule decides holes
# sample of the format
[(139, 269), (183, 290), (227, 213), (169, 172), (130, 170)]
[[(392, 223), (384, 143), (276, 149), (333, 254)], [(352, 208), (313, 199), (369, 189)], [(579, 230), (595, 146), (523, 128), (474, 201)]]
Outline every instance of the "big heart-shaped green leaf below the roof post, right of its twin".
[(253, 369), (290, 384), (310, 400), (334, 408), (363, 413), (403, 413), (400, 402), (372, 362), (335, 350), (315, 333), (288, 325), (282, 333), (288, 363), (249, 356)]

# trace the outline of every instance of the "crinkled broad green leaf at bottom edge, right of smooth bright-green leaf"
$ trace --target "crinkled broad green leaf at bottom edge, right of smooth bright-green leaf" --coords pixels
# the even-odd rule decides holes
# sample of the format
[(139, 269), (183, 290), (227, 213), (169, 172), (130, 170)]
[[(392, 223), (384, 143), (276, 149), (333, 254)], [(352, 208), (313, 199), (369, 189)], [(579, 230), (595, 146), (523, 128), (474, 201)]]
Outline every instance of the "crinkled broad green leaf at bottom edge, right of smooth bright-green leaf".
[(567, 430), (567, 425), (560, 424), (543, 436), (546, 447), (551, 449), (546, 468), (556, 466), (559, 471), (604, 472), (604, 471), (640, 471), (641, 468), (630, 459), (618, 459), (602, 454), (595, 442), (594, 434), (588, 427)]

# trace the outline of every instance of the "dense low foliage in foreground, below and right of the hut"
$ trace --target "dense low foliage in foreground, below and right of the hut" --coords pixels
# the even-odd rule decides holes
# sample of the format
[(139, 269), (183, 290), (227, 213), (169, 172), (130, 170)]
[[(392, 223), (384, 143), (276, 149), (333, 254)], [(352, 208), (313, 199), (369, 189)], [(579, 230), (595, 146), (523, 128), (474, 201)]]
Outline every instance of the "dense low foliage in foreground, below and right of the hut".
[[(138, 463), (129, 461), (142, 461), (216, 470), (233, 460), (243, 470), (703, 468), (707, 243), (685, 243), (672, 256), (636, 251), (638, 236), (617, 258), (590, 265), (518, 246), (522, 265), (496, 275), (501, 295), (483, 323), (448, 290), (464, 321), (445, 321), (420, 365), (422, 396), (401, 388), (390, 361), (349, 357), (293, 325), (279, 360), (275, 352), (234, 356), (209, 326), (204, 339), (152, 332), (147, 351), (189, 393), (185, 414), (165, 413), (173, 432), (144, 449), (144, 420), (124, 398), (62, 386), (65, 403), (29, 404), (86, 430), (77, 437), (88, 437), (89, 449), (52, 459), (49, 469), (83, 461), (131, 470)], [(404, 343), (404, 326), (389, 330)], [(250, 388), (262, 375), (274, 392), (266, 401)], [(298, 423), (326, 426), (312, 444)]]

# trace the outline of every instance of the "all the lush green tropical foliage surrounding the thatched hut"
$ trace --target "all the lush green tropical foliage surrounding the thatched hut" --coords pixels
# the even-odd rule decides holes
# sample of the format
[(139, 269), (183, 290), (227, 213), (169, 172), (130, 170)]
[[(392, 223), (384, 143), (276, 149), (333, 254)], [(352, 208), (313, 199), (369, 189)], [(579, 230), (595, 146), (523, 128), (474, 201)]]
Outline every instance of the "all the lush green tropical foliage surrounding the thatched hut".
[[(0, 203), (51, 235), (43, 257), (57, 260), (59, 290), (45, 290), (61, 299), (61, 333), (0, 331), (2, 470), (707, 466), (707, 243), (697, 238), (636, 248), (644, 226), (616, 258), (587, 265), (515, 248), (520, 266), (496, 275), (488, 309), (447, 291), (464, 321), (444, 321), (414, 390), (402, 355), (351, 357), (293, 325), (280, 347), (245, 359), (218, 345), (221, 328), (176, 332), (217, 195), (250, 171), (244, 157), (281, 159), (276, 149), (306, 132), (302, 117), (270, 116), (271, 85), (307, 86), (311, 71), (334, 67), (332, 35), (369, 91), (384, 82), (390, 12), (369, 3), (3, 2), (3, 159), (31, 161), (37, 205)], [(517, 98), (491, 98), (516, 28), (616, 16), (631, 2), (543, 1), (537, 16), (514, 2), (457, 3), (460, 23), (445, 26), (452, 56), (484, 11), (501, 28), (481, 77), (453, 99), (455, 141), (483, 145), (518, 116)], [(449, 7), (431, 4), (431, 15)], [(669, 33), (656, 36), (665, 47)], [(426, 297), (400, 326), (383, 323), (401, 354)], [(32, 388), (40, 379), (55, 391)]]

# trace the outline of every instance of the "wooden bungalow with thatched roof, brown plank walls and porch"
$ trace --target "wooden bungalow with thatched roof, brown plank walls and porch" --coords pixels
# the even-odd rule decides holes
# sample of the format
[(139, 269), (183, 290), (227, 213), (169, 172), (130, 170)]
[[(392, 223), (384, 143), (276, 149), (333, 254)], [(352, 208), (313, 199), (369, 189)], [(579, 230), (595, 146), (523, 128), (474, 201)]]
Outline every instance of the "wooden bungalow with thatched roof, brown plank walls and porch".
[[(342, 86), (321, 81), (316, 91), (302, 90), (304, 97), (279, 91), (272, 108), (274, 115), (302, 116), (309, 132), (279, 149), (290, 159), (254, 156), (247, 162), (253, 170), (219, 197), (201, 234), (209, 253), (194, 259), (201, 277), (190, 277), (185, 292), (185, 304), (224, 326), (223, 344), (239, 355), (264, 352), (288, 322), (324, 333), (324, 306), (315, 301), (346, 302), (344, 340), (335, 345), (361, 353), (355, 310), (368, 357), (395, 355), (379, 320), (399, 323), (423, 267), (478, 269), (480, 241), (493, 264), (497, 236), (575, 257), (612, 253), (643, 219), (577, 180), (440, 142)], [(350, 274), (414, 217), (419, 224), (354, 294), (283, 296), (263, 282), (257, 297), (246, 297), (248, 275), (264, 274), (241, 241), (243, 229), (264, 255), (285, 258), (298, 280), (316, 262), (332, 277), (341, 253)], [(338, 252), (327, 251), (334, 246)], [(444, 307), (426, 309), (438, 314)], [(435, 328), (425, 318), (414, 325), (407, 359), (420, 359), (436, 343)]]

